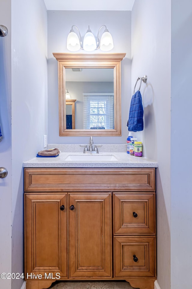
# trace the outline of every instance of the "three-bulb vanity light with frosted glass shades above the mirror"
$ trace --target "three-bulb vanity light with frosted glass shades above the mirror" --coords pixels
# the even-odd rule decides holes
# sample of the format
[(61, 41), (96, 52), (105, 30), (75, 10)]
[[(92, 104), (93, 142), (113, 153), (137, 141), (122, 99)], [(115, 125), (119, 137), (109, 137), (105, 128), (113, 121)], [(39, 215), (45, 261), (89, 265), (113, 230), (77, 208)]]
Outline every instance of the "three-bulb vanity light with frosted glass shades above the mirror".
[[(76, 30), (79, 33), (79, 37), (75, 33), (75, 30), (73, 27), (76, 28)], [(101, 41), (99, 40), (99, 32), (102, 27), (105, 27), (104, 33), (101, 36)], [(109, 30), (107, 29), (106, 25), (102, 25), (97, 34), (97, 42), (95, 39), (95, 36), (93, 35), (92, 31), (89, 29), (84, 36), (84, 39), (82, 41), (81, 34), (79, 29), (73, 25), (70, 33), (67, 36), (67, 49), (70, 51), (78, 51), (79, 49), (85, 50), (85, 51), (94, 51), (97, 49), (101, 49), (102, 51), (109, 51), (113, 48), (113, 38), (111, 34), (109, 33)]]

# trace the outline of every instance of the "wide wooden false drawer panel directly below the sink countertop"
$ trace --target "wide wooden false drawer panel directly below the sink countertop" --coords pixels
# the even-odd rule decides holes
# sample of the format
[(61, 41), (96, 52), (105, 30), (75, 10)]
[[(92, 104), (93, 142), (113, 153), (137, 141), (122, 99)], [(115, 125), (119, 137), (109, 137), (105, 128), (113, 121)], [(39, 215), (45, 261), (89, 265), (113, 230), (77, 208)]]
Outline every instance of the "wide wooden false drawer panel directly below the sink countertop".
[(155, 169), (26, 168), (25, 191), (155, 191)]

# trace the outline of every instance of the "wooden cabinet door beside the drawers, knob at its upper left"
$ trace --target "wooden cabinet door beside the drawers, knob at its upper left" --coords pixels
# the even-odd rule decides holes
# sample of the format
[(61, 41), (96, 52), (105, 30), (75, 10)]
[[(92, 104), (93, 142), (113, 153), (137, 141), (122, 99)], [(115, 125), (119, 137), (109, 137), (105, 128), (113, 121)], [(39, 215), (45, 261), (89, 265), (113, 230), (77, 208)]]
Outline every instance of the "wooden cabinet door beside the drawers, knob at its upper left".
[(111, 237), (111, 195), (69, 194), (69, 277), (112, 278)]

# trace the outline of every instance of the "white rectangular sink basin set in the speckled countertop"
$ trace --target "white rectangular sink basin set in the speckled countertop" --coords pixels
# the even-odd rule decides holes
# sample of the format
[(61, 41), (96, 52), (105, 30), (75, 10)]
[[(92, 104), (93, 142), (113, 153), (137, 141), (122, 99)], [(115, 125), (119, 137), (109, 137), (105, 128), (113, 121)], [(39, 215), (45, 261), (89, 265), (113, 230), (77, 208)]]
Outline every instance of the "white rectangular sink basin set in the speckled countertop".
[(110, 161), (110, 160), (117, 160), (113, 155), (101, 155), (101, 154), (81, 154), (81, 155), (68, 155), (65, 159), (66, 160), (73, 160), (73, 161)]

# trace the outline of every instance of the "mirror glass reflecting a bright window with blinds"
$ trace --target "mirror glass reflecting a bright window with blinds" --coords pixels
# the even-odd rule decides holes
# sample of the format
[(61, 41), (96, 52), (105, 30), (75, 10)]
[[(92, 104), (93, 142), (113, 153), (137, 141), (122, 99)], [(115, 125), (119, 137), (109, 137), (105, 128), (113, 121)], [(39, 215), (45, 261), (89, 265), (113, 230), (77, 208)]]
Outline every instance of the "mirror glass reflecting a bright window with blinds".
[(113, 68), (65, 68), (65, 88), (76, 99), (75, 129), (114, 129)]

